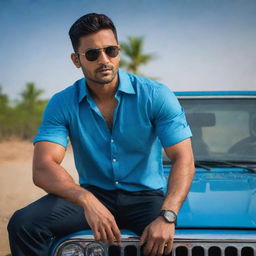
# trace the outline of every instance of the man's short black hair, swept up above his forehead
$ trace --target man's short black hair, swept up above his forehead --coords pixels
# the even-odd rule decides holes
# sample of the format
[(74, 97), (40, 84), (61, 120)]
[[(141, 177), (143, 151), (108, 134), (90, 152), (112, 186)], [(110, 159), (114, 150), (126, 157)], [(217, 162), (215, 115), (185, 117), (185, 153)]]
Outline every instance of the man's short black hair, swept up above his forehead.
[(79, 18), (70, 28), (69, 36), (74, 51), (79, 47), (79, 40), (82, 36), (86, 36), (102, 29), (111, 29), (117, 39), (116, 28), (112, 20), (104, 14), (88, 13)]

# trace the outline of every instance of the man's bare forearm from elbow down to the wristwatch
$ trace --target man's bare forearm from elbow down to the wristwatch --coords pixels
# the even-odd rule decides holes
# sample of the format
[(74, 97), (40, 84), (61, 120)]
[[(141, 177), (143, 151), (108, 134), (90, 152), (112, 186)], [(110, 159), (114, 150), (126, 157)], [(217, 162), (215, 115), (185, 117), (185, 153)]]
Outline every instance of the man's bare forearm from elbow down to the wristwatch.
[(194, 161), (176, 160), (168, 178), (168, 187), (162, 209), (179, 212), (184, 202), (195, 173)]

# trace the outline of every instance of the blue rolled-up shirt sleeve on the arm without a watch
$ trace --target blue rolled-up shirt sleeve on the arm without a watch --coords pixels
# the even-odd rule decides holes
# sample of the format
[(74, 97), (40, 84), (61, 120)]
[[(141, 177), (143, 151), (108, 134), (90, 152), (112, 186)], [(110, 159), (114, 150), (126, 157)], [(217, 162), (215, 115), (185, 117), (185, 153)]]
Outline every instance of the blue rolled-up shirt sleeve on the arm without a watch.
[(34, 138), (34, 144), (39, 141), (49, 141), (67, 147), (68, 122), (65, 118), (65, 108), (61, 103), (59, 94), (55, 94), (48, 102), (38, 134)]

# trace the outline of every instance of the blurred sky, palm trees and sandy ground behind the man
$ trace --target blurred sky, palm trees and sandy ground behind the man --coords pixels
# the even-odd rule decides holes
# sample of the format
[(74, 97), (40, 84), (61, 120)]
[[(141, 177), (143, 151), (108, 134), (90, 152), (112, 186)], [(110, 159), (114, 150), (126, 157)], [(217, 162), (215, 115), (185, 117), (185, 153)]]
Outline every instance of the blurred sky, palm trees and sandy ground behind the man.
[[(68, 31), (89, 12), (115, 23), (125, 70), (174, 91), (256, 90), (255, 0), (0, 0), (0, 256), (11, 214), (44, 194), (31, 142), (49, 98), (82, 77)], [(63, 165), (76, 179), (70, 148)]]

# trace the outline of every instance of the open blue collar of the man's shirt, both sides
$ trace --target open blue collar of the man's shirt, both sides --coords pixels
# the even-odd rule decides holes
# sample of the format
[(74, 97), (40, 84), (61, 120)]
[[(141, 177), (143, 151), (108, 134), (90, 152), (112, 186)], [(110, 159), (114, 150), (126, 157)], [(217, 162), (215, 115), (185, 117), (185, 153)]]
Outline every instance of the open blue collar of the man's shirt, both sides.
[[(118, 70), (118, 75), (119, 75), (119, 85), (117, 91), (119, 92), (124, 92), (127, 94), (136, 94), (134, 91), (134, 88), (132, 86), (130, 77), (128, 73), (123, 71), (122, 69)], [(86, 86), (86, 79), (82, 78), (78, 80), (78, 87), (79, 87), (79, 102), (82, 101), (84, 97), (88, 95), (88, 89)]]

